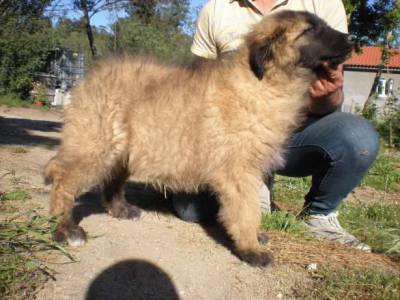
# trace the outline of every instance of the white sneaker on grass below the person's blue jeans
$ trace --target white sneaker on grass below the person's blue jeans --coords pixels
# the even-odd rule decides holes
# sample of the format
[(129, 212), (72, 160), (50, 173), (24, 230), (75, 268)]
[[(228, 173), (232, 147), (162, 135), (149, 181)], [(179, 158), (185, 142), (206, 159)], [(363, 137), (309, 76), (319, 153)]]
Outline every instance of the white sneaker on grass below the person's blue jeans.
[(338, 212), (332, 212), (329, 215), (306, 215), (303, 217), (303, 221), (317, 238), (339, 242), (356, 249), (371, 252), (370, 246), (360, 242), (355, 236), (343, 229), (337, 217)]

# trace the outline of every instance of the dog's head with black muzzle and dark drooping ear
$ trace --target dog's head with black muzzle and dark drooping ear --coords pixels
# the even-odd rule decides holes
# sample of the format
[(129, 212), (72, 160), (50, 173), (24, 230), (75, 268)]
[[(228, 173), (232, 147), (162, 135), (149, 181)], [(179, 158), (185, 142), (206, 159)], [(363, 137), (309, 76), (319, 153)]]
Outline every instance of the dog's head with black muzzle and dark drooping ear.
[(308, 12), (281, 11), (258, 23), (247, 37), (249, 63), (258, 79), (269, 66), (317, 71), (323, 62), (336, 66), (355, 46), (352, 36), (329, 27)]

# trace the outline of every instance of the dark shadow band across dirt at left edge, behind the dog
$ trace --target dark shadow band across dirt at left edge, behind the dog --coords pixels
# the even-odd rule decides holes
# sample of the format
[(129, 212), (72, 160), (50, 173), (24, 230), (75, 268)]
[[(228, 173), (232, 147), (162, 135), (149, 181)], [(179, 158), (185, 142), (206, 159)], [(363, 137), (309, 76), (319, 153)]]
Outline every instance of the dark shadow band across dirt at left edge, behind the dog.
[(52, 149), (60, 144), (58, 138), (35, 135), (29, 131), (59, 132), (61, 127), (61, 122), (0, 116), (0, 145), (42, 146)]

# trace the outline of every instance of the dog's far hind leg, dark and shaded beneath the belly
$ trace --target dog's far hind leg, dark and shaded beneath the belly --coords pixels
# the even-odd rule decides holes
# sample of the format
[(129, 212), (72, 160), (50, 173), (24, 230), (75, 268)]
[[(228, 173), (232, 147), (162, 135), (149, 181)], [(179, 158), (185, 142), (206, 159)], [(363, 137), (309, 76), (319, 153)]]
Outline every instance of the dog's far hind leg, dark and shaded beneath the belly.
[(129, 173), (125, 167), (118, 165), (103, 185), (103, 202), (111, 216), (119, 219), (136, 219), (141, 211), (135, 205), (129, 204), (124, 195), (124, 184)]

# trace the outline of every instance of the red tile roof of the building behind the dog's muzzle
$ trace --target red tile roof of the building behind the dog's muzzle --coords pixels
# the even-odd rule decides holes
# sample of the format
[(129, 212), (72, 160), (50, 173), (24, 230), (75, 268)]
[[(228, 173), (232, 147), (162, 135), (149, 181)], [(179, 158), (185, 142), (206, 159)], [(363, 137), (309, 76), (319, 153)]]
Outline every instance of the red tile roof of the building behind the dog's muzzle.
[[(378, 66), (381, 61), (382, 49), (380, 47), (363, 47), (363, 53), (361, 55), (353, 52), (351, 58), (349, 58), (345, 64), (355, 66), (366, 66), (375, 67)], [(400, 49), (391, 50), (394, 55), (389, 59), (389, 68), (400, 68)]]

